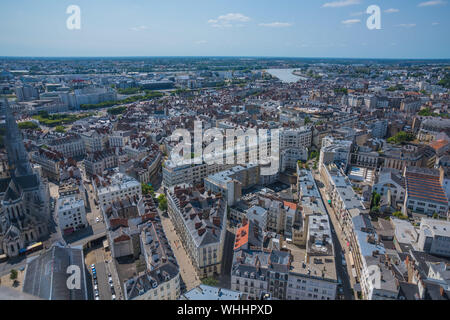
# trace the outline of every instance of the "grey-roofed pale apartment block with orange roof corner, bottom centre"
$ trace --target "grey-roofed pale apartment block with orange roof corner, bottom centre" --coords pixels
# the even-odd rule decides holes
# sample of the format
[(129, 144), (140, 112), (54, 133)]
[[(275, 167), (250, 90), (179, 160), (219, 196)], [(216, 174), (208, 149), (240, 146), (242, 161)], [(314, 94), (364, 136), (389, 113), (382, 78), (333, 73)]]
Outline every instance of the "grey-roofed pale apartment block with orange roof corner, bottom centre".
[[(236, 232), (231, 289), (251, 300), (265, 294), (283, 300), (334, 300), (338, 283), (333, 250), (331, 256), (323, 250), (315, 256), (313, 251), (324, 238), (311, 232), (314, 244), (301, 249), (282, 237), (264, 234), (255, 221), (244, 220)], [(264, 243), (267, 246), (263, 247)]]

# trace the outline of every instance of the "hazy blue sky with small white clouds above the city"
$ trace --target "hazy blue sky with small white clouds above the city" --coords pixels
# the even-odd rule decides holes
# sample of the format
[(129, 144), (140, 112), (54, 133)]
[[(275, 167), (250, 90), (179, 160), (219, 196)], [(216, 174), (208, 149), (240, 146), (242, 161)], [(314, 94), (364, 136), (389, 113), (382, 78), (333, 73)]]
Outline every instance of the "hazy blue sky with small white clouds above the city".
[(450, 0), (1, 0), (0, 56), (447, 59), (449, 17)]

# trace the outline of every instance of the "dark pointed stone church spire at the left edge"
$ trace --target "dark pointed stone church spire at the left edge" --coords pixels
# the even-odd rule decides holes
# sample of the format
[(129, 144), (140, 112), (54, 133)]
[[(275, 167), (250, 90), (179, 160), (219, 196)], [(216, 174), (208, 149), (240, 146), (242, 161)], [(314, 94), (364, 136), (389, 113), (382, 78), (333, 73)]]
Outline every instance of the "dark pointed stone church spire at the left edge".
[(16, 119), (11, 112), (7, 99), (3, 101), (5, 114), (6, 136), (5, 146), (8, 153), (8, 163), (11, 176), (26, 176), (33, 174), (28, 153), (23, 145), (22, 133), (17, 126)]

